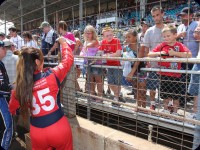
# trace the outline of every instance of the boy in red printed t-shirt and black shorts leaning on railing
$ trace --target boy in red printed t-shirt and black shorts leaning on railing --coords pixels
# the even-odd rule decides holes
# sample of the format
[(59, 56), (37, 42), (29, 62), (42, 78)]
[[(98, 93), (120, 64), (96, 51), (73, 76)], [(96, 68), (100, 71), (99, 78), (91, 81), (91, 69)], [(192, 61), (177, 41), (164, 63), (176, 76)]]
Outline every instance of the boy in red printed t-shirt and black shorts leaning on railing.
[[(162, 58), (190, 58), (192, 56), (190, 50), (182, 43), (176, 41), (177, 29), (174, 26), (166, 26), (162, 30), (164, 42), (148, 54), (149, 57)], [(159, 62), (159, 66), (163, 69), (181, 69), (181, 63), (176, 62)], [(164, 99), (164, 112), (177, 115), (179, 100), (181, 95), (180, 73), (159, 72), (161, 75), (160, 96)], [(168, 107), (170, 106), (170, 107)], [(171, 106), (173, 108), (171, 108)], [(169, 108), (171, 110), (169, 110)]]

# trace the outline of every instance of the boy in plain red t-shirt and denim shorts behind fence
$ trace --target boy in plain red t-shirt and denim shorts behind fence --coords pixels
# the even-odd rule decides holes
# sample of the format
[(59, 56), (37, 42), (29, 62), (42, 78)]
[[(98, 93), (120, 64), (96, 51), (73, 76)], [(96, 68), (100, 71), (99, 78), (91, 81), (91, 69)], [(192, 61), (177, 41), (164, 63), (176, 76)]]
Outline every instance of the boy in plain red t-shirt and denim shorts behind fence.
[[(103, 40), (99, 50), (104, 51), (105, 57), (120, 57), (121, 56), (121, 44), (119, 39), (113, 37), (113, 30), (110, 27), (105, 27), (102, 31)], [(121, 80), (122, 80), (122, 70), (119, 69), (120, 61), (107, 60), (106, 65), (115, 66), (115, 68), (108, 68), (107, 78), (108, 84), (114, 93), (114, 100), (119, 101), (119, 93), (121, 91)], [(118, 106), (112, 103), (113, 106)]]

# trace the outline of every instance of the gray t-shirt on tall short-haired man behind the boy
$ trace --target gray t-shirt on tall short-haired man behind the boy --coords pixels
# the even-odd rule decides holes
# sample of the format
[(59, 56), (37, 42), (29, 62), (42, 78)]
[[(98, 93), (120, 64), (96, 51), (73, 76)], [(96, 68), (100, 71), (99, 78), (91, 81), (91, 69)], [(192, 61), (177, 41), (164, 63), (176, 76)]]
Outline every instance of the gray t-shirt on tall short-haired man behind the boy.
[(162, 42), (162, 29), (153, 26), (146, 31), (144, 35), (144, 42), (142, 45), (148, 47), (150, 51), (152, 51), (153, 48), (155, 48), (158, 44)]

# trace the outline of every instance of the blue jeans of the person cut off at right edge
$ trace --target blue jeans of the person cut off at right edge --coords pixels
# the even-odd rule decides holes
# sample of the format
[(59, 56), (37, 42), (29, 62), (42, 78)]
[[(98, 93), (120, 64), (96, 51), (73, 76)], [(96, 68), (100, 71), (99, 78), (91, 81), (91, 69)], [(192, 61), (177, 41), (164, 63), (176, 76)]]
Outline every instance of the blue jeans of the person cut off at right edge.
[[(192, 68), (192, 71), (199, 71), (200, 64), (195, 64)], [(188, 93), (192, 96), (197, 96), (199, 93), (199, 79), (200, 74), (191, 74), (190, 84), (188, 87)]]

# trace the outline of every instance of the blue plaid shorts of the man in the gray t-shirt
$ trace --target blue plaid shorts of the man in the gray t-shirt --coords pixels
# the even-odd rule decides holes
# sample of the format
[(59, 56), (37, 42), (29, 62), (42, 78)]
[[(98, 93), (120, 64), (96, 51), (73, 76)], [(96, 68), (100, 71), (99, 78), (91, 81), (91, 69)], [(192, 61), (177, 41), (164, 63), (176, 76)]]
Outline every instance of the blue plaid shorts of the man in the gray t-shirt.
[(159, 88), (158, 74), (156, 72), (149, 72), (147, 77), (147, 89), (156, 90)]

